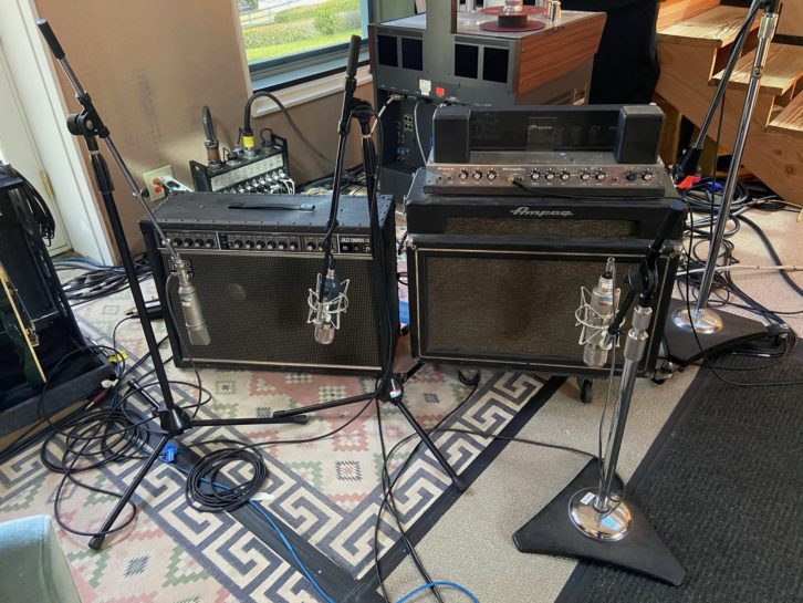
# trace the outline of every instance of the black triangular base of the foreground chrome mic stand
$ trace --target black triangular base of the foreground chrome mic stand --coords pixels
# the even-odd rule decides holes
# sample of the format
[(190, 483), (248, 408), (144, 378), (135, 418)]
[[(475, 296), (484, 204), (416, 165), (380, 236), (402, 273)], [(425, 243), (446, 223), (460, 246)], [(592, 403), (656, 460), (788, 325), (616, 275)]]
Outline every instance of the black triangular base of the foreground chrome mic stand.
[[(680, 585), (686, 571), (632, 498), (626, 502), (630, 514), (629, 527), (619, 540), (592, 539), (574, 526), (567, 512), (572, 499), (584, 489), (596, 491), (598, 485), (599, 466), (594, 459), (561, 493), (513, 534), (515, 547), (523, 553), (571, 557), (617, 565), (675, 586)], [(615, 489), (620, 488), (619, 484)]]

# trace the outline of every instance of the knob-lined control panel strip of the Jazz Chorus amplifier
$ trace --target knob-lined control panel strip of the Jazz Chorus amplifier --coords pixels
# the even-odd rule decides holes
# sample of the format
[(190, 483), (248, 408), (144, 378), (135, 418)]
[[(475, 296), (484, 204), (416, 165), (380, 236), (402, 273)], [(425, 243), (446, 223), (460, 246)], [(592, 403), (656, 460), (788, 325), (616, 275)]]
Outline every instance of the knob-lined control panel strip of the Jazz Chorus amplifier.
[[(324, 236), (299, 232), (229, 232), (208, 230), (167, 230), (165, 236), (176, 249), (226, 252), (323, 253)], [(160, 245), (160, 247), (165, 247)], [(371, 237), (335, 235), (332, 251), (338, 254), (369, 256)]]

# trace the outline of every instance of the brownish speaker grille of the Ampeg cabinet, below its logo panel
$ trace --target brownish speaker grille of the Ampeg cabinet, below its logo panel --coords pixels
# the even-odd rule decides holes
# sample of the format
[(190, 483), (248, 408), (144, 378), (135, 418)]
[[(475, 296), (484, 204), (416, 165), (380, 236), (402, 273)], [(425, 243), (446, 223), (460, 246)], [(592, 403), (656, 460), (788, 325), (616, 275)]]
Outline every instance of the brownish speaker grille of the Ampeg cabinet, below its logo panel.
[[(488, 250), (471, 254), (418, 249), (411, 277), (416, 289), (415, 352), (424, 358), (466, 364), (524, 364), (555, 373), (605, 372), (583, 364), (574, 311), (580, 305), (581, 287), (596, 284), (608, 257), (616, 259), (617, 287), (624, 300), (628, 291), (625, 274), (640, 262), (640, 256)], [(661, 258), (661, 289), (654, 298), (651, 339), (643, 367), (655, 361), (660, 339), (660, 333), (655, 337), (655, 324), (661, 324), (657, 322), (661, 320), (659, 305), (668, 299), (664, 282), (670, 266), (674, 263), (668, 257)]]

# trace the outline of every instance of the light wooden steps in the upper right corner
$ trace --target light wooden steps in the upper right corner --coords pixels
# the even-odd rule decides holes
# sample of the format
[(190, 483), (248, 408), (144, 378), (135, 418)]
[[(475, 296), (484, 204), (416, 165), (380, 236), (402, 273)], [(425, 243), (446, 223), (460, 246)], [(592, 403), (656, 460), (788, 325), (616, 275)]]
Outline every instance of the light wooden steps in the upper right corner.
[[(708, 0), (667, 0), (659, 17), (657, 93), (700, 125), (747, 9)], [(675, 20), (682, 8), (690, 17)], [(707, 9), (707, 10), (706, 10)], [(731, 148), (744, 104), (758, 19), (724, 100), (721, 145)], [(773, 42), (750, 127), (743, 166), (789, 202), (803, 205), (803, 46)], [(671, 113), (671, 112), (670, 112)], [(676, 116), (677, 117), (677, 116)], [(715, 117), (719, 119), (719, 115)], [(670, 122), (671, 115), (670, 115)], [(717, 123), (717, 122), (715, 122)], [(671, 153), (671, 145), (664, 145)], [(674, 157), (665, 157), (674, 162)]]

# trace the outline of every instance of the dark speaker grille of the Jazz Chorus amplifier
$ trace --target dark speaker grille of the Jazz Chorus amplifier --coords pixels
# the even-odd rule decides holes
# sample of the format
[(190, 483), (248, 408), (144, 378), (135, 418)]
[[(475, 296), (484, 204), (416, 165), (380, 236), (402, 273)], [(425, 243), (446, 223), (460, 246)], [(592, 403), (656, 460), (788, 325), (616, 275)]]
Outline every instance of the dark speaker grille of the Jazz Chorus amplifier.
[[(334, 342), (321, 345), (313, 339), (313, 326), (306, 324), (307, 292), (321, 271), (320, 258), (190, 251), (182, 258), (191, 263), (192, 284), (211, 337), (209, 345), (188, 346), (196, 362), (378, 370), (379, 325), (368, 259), (337, 259), (337, 278), (351, 280), (348, 310)], [(163, 268), (169, 272), (164, 253)], [(177, 289), (177, 280), (171, 279), (176, 326), (188, 344)], [(182, 360), (188, 360), (186, 353)]]

